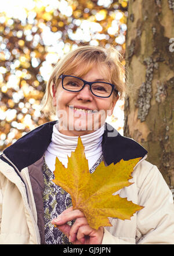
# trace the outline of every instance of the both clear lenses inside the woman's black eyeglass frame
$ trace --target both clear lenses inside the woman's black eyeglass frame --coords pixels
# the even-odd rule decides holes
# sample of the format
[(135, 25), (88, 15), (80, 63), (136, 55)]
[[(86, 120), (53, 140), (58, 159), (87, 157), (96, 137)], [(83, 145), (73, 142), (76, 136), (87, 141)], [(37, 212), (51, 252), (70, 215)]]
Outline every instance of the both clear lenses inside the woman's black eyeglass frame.
[[(84, 82), (76, 77), (66, 76), (63, 79), (63, 87), (70, 91), (79, 91)], [(107, 83), (95, 82), (91, 86), (92, 93), (100, 97), (108, 97), (111, 94), (112, 86)]]

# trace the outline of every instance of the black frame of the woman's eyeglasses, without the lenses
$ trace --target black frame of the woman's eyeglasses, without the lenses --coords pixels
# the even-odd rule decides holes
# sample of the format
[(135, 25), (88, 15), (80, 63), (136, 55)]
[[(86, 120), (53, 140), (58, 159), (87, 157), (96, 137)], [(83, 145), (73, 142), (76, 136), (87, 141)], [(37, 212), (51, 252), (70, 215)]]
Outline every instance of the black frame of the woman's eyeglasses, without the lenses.
[(96, 97), (100, 97), (100, 98), (109, 98), (109, 97), (111, 96), (111, 94), (113, 93), (114, 90), (115, 90), (115, 91), (117, 92), (117, 94), (118, 94), (118, 90), (115, 89), (115, 85), (114, 85), (114, 84), (106, 83), (106, 82), (100, 81), (100, 83), (103, 83), (103, 84), (110, 84), (110, 86), (112, 87), (112, 90), (111, 90), (111, 93), (110, 93), (109, 96), (99, 96), (99, 95), (96, 95), (96, 94), (94, 94), (94, 93), (92, 92), (91, 86), (92, 86), (92, 84), (99, 83), (99, 81), (97, 81), (97, 82), (88, 82), (88, 81), (86, 81), (86, 80), (84, 80), (84, 79), (81, 79), (81, 78), (78, 77), (78, 76), (70, 76), (70, 77), (75, 77), (75, 78), (78, 78), (79, 80), (83, 81), (83, 82), (84, 82), (84, 86), (82, 86), (82, 88), (81, 88), (80, 90), (78, 90), (78, 91), (68, 90), (68, 89), (64, 88), (64, 86), (63, 86), (63, 79), (64, 79), (64, 77), (67, 77), (67, 76), (70, 76), (70, 75), (61, 74), (61, 75), (59, 76), (59, 79), (61, 79), (61, 86), (62, 86), (63, 89), (66, 90), (66, 91), (71, 91), (72, 93), (78, 93), (79, 91), (83, 90), (83, 88), (86, 86), (86, 84), (88, 84), (89, 87), (90, 87), (91, 93), (92, 93), (93, 95), (95, 95)]

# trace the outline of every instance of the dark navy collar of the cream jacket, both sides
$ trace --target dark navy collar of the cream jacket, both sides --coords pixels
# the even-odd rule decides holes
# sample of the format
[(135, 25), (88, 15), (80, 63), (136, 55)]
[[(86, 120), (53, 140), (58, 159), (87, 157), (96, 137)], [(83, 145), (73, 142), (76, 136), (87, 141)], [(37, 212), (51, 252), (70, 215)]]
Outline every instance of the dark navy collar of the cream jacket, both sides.
[[(21, 170), (38, 161), (51, 142), (53, 125), (57, 121), (45, 123), (19, 138), (14, 144), (6, 148), (3, 154)], [(129, 160), (144, 157), (147, 151), (132, 138), (121, 136), (117, 130), (105, 123), (102, 140), (103, 157), (107, 165), (117, 163), (121, 159)], [(3, 161), (5, 158), (2, 157)]]

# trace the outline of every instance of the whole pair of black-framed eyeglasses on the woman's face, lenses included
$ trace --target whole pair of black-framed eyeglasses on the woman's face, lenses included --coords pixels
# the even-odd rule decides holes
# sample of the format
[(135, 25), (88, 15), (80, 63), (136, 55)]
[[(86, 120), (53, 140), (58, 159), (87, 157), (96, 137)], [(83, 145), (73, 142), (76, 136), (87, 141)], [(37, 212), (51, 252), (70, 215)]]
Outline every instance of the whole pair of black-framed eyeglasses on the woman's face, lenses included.
[(117, 91), (114, 84), (105, 83), (102, 81), (88, 82), (77, 76), (67, 76), (66, 74), (61, 74), (59, 78), (61, 79), (62, 87), (67, 91), (81, 91), (86, 84), (89, 85), (90, 91), (93, 95), (101, 98), (108, 98), (113, 93), (113, 90)]

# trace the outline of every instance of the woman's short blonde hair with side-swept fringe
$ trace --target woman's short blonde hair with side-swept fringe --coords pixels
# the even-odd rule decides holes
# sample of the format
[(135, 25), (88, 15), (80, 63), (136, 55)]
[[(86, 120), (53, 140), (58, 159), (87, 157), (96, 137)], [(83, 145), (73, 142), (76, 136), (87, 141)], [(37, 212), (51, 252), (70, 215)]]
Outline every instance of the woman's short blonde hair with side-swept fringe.
[[(119, 98), (124, 98), (126, 94), (126, 74), (121, 61), (122, 55), (113, 47), (106, 49), (99, 46), (85, 45), (69, 52), (57, 62), (53, 69), (41, 101), (41, 111), (46, 116), (55, 115), (56, 108), (52, 105), (52, 84), (55, 84), (57, 88), (60, 83), (59, 76), (61, 74), (72, 74), (74, 70), (77, 74), (77, 68), (82, 66), (84, 66), (84, 69), (79, 69), (77, 74), (79, 77), (88, 73), (93, 66), (97, 66), (106, 74), (110, 83), (115, 84)], [(103, 69), (103, 67), (107, 67), (107, 72), (106, 68)], [(118, 97), (115, 90), (114, 95)]]

